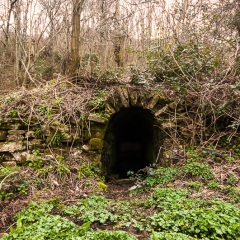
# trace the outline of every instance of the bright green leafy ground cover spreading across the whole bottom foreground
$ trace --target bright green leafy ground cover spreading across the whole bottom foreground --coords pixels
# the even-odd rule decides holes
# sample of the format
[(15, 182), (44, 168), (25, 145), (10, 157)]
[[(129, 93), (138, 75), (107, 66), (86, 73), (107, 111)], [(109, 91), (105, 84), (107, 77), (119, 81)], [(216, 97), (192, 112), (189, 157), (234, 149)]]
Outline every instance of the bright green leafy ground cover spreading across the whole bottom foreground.
[[(157, 187), (147, 199), (130, 202), (100, 195), (68, 206), (58, 199), (32, 202), (16, 215), (16, 226), (3, 239), (137, 239), (119, 231), (129, 227), (149, 232), (150, 240), (239, 239), (240, 209), (235, 204), (191, 194), (187, 189)], [(93, 223), (111, 225), (113, 230), (96, 231)]]

